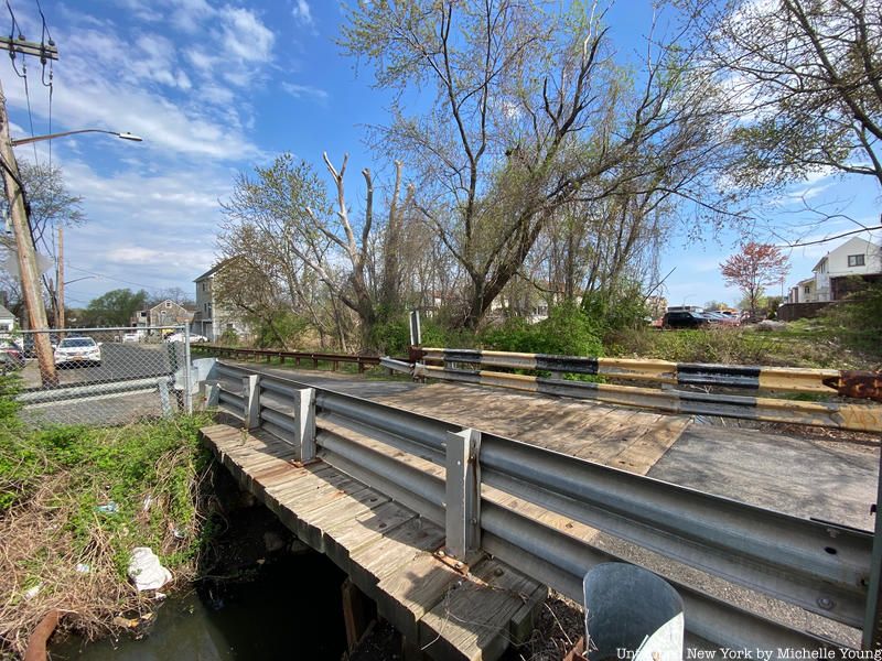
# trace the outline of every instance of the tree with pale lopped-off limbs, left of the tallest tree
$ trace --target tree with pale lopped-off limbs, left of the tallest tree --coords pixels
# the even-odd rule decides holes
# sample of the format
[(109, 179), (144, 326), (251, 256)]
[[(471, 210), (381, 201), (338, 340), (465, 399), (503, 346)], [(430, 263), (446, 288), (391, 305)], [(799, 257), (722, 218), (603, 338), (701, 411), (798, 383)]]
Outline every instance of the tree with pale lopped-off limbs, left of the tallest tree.
[[(255, 270), (249, 278), (258, 291), (271, 292), (272, 283), (283, 284), (291, 305), (304, 305), (316, 329), (327, 335), (329, 307), (343, 348), (347, 348), (351, 323), (341, 305), (357, 315), (359, 340), (370, 344), (377, 323), (401, 307), (404, 279), (400, 242), (405, 236), (401, 198), (401, 164), (395, 164), (395, 181), (388, 214), (375, 217), (375, 191), (370, 171), (364, 169), (366, 184), (364, 216), (352, 218), (346, 199), (345, 177), (348, 158), (335, 166), (327, 154), (323, 160), (333, 182), (334, 203), (306, 163), (295, 163), (289, 154), (279, 156), (269, 167), (256, 169), (256, 177), (239, 175), (232, 198), (224, 204), (227, 221), (219, 237), (222, 253), (245, 259), (240, 269)], [(324, 303), (315, 299), (326, 290)], [(229, 301), (243, 296), (229, 291)], [(266, 296), (249, 299), (250, 304)], [(245, 305), (243, 300), (239, 306)], [(276, 304), (278, 307), (278, 303)], [(265, 307), (265, 318), (270, 313)]]

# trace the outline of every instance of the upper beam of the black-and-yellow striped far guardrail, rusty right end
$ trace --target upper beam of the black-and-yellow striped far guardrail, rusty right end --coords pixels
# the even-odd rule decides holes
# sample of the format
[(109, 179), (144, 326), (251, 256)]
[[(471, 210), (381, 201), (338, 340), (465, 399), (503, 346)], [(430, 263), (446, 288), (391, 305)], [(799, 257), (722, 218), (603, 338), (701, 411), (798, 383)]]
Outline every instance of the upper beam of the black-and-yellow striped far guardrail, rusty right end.
[(676, 386), (813, 392), (882, 401), (882, 375), (869, 371), (671, 362), (643, 358), (553, 356), (477, 349), (426, 348), (422, 353), (426, 360), (445, 364), (469, 362), (482, 367), (601, 375), (615, 379), (656, 381)]

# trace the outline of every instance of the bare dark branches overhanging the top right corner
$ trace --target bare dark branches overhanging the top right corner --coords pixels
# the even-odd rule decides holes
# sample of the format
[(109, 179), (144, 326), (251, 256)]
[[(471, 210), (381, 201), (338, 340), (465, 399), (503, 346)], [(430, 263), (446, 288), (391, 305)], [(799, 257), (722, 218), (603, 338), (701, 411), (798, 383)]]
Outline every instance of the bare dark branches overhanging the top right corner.
[(882, 186), (879, 0), (696, 0), (692, 9), (742, 117), (738, 180), (766, 186), (838, 172)]

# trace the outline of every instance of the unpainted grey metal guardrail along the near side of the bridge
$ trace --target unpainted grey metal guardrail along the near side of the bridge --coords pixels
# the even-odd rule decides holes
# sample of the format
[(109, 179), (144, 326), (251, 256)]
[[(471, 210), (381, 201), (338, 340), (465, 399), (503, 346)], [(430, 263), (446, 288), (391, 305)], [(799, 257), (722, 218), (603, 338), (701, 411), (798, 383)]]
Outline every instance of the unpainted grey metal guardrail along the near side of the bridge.
[[(861, 627), (873, 534), (745, 505), (289, 379), (219, 366), (222, 408), (444, 525), (448, 552), (488, 552), (581, 599), (584, 573), (620, 560), (578, 521), (831, 620)], [(309, 402), (309, 403), (304, 403)], [(299, 414), (293, 414), (299, 411)], [(831, 646), (674, 583), (687, 629), (730, 649)], [(835, 647), (835, 646), (833, 646)], [(875, 649), (875, 648), (874, 648)], [(794, 657), (797, 658), (797, 657)], [(799, 657), (802, 658), (802, 657)], [(816, 657), (806, 657), (816, 658)], [(829, 658), (829, 657), (821, 657)]]

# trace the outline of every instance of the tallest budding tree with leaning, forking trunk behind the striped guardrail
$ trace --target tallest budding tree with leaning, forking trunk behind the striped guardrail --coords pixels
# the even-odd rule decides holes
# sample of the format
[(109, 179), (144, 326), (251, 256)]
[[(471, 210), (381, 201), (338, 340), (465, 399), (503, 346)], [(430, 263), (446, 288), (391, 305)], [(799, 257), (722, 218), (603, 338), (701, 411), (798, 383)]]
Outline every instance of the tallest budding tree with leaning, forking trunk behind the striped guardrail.
[[(464, 273), (460, 325), (480, 323), (573, 201), (627, 185), (724, 210), (690, 187), (706, 174), (695, 165), (712, 169), (722, 145), (709, 128), (712, 88), (684, 74), (692, 51), (650, 45), (634, 87), (611, 59), (602, 17), (579, 7), (408, 0), (349, 10), (344, 48), (398, 94), (375, 139), (412, 164), (418, 208)], [(409, 116), (413, 85), (435, 96)]]

